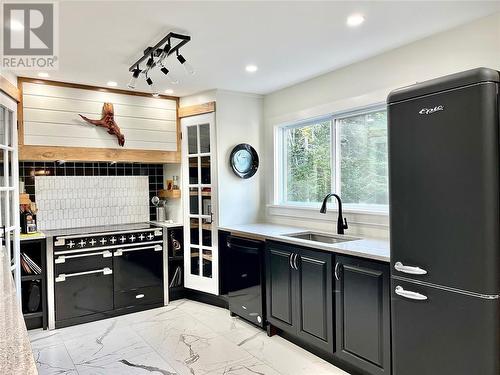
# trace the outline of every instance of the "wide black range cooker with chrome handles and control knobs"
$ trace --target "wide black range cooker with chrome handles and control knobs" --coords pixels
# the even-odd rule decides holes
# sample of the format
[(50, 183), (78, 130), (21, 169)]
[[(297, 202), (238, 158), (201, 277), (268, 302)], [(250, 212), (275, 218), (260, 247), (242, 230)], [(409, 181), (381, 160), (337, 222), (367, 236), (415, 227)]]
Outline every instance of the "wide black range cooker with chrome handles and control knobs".
[(162, 228), (131, 224), (47, 234), (49, 328), (164, 304)]

